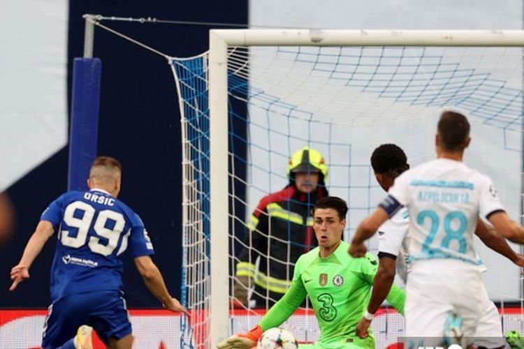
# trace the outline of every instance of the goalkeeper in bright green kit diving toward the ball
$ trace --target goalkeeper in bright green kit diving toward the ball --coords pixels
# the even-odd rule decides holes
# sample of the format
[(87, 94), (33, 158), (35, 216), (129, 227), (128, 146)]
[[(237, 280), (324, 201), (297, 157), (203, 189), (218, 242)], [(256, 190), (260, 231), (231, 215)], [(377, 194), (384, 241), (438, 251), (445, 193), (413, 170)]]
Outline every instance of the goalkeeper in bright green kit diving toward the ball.
[[(291, 287), (264, 315), (259, 325), (245, 334), (235, 334), (217, 346), (252, 348), (263, 332), (285, 322), (309, 296), (319, 321), (321, 336), (314, 344), (300, 348), (374, 348), (372, 332), (365, 339), (356, 335), (356, 325), (366, 313), (377, 258), (371, 253), (366, 258), (352, 258), (347, 253), (349, 244), (342, 241), (346, 226), (346, 202), (328, 196), (314, 207), (314, 231), (319, 246), (298, 258)], [(400, 313), (404, 313), (405, 292), (393, 285), (386, 297)]]

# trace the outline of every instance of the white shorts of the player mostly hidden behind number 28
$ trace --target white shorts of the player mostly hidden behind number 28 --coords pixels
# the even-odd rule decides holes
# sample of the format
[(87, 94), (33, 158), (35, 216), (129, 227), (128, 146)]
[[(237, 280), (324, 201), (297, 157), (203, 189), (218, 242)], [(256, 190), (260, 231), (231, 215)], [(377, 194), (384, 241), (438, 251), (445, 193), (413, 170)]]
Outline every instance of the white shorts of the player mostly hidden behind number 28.
[(482, 284), (482, 314), (479, 320), (479, 325), (476, 327), (476, 340), (474, 342), (476, 347), (486, 348), (500, 348), (506, 344), (504, 335), (502, 334), (502, 322), (497, 307), (488, 296), (486, 287)]

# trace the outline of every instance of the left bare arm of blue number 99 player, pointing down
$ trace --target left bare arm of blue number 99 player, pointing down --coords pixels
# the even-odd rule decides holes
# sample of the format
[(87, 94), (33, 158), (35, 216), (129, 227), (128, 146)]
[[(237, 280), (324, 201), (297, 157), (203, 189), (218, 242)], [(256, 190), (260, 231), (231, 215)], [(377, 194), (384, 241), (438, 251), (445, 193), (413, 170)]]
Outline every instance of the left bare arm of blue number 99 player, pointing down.
[(13, 284), (9, 288), (10, 291), (14, 291), (19, 283), (25, 279), (29, 279), (29, 268), (42, 251), (45, 243), (48, 242), (48, 239), (53, 235), (53, 232), (54, 228), (50, 222), (40, 221), (40, 223), (38, 223), (36, 230), (25, 246), (24, 254), (20, 262), (11, 269), (11, 280), (13, 280)]

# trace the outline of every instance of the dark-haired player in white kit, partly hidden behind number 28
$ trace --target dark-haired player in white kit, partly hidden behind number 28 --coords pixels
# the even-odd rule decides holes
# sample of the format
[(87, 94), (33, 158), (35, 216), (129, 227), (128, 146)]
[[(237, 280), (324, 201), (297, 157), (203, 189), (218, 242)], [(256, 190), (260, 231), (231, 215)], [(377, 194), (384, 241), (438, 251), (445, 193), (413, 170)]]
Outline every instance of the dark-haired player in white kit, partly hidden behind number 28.
[[(375, 177), (384, 191), (388, 191), (393, 186), (395, 178), (409, 169), (406, 154), (396, 144), (381, 144), (377, 149), (374, 149), (371, 165)], [(367, 312), (370, 314), (377, 311), (384, 302), (384, 292), (385, 295), (388, 294), (395, 278), (395, 267), (396, 274), (404, 283), (406, 282), (409, 270), (409, 265), (405, 262), (408, 257), (408, 228), (409, 214), (405, 207), (379, 227), (379, 271), (375, 276), (372, 296), (367, 306)], [(503, 237), (492, 234), (483, 223), (479, 222), (475, 234), (482, 239), (486, 246), (506, 256), (516, 265), (524, 266), (524, 258), (515, 253)], [(482, 272), (486, 271), (486, 267), (483, 265), (479, 265), (479, 267)], [(476, 329), (474, 344), (476, 348), (504, 348), (506, 341), (502, 334), (500, 315), (495, 304), (490, 301), (485, 287), (483, 287), (481, 296), (483, 298), (482, 313)], [(358, 336), (365, 338), (370, 325), (370, 320), (362, 318), (356, 330)]]

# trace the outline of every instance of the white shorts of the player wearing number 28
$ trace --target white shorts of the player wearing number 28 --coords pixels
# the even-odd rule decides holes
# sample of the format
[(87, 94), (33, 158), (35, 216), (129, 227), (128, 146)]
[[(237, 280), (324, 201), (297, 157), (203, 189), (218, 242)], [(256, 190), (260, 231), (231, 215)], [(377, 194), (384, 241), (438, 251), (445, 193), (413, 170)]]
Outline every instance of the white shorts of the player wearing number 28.
[(464, 346), (472, 344), (481, 316), (481, 272), (476, 265), (451, 259), (413, 263), (406, 285), (406, 337), (424, 338), (423, 344), (444, 344), (450, 313), (462, 318)]

